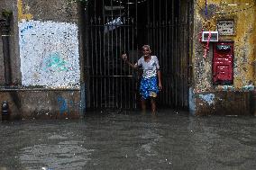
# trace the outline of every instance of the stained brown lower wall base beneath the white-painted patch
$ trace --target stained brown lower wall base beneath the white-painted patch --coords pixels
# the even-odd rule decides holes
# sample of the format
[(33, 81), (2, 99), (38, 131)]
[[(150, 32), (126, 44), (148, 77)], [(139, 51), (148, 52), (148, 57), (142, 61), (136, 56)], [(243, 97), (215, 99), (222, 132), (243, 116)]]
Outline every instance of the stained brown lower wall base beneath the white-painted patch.
[(79, 90), (2, 89), (0, 98), (9, 102), (11, 119), (73, 119), (83, 116), (79, 113)]

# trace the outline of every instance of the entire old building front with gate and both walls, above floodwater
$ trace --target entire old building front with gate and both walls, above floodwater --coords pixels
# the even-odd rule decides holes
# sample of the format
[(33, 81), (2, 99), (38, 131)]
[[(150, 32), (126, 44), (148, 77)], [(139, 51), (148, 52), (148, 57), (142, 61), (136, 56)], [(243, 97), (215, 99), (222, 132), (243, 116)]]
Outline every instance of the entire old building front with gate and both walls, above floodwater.
[[(0, 99), (12, 118), (137, 109), (142, 44), (160, 58), (163, 107), (255, 114), (255, 1), (2, 0)], [(2, 52), (3, 51), (3, 52)]]

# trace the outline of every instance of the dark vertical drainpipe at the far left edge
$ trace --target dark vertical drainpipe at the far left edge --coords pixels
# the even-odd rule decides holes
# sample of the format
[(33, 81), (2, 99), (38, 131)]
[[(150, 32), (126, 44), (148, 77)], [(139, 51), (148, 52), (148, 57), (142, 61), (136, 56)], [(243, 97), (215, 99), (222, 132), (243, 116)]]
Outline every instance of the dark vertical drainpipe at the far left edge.
[(3, 40), (3, 54), (5, 66), (5, 85), (11, 85), (11, 59), (10, 59), (10, 19), (0, 19), (0, 31)]

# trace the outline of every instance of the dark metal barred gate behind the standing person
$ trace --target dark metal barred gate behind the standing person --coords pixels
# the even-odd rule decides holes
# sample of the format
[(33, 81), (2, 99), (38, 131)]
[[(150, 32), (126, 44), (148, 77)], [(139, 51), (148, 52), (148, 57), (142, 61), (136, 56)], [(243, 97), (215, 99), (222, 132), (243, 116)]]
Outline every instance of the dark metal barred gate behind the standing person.
[(163, 92), (158, 102), (187, 107), (189, 17), (187, 0), (91, 0), (87, 4), (87, 107), (135, 109), (143, 44), (158, 56)]

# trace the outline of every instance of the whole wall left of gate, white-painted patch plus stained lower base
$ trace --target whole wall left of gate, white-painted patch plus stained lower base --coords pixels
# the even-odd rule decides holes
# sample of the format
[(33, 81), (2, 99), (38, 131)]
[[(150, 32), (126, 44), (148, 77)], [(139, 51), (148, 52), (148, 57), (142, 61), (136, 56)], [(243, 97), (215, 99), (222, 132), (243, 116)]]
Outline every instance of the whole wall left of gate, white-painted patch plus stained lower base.
[[(76, 1), (5, 0), (0, 4), (14, 13), (13, 80), (11, 86), (4, 85), (1, 67), (0, 103), (10, 104), (12, 118), (81, 116), (83, 59)], [(3, 66), (2, 51), (0, 58)]]

